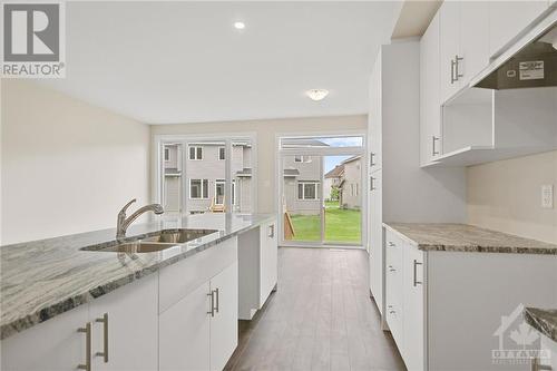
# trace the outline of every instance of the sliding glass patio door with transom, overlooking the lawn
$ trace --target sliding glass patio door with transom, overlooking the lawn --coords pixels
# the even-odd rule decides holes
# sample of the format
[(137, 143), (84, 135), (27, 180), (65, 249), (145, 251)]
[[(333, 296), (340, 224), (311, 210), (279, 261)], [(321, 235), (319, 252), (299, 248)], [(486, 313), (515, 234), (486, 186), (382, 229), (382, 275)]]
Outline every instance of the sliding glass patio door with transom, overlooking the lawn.
[(335, 147), (339, 138), (282, 139), (283, 245), (362, 245), (364, 164), (358, 138), (355, 148)]

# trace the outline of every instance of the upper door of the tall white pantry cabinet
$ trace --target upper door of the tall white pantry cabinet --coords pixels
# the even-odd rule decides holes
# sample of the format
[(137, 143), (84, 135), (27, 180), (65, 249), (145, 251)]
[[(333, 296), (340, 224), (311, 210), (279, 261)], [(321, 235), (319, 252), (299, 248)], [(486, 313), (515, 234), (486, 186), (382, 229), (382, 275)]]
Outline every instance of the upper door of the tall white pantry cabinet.
[(380, 51), (370, 78), (370, 111), (368, 115), (368, 140), (370, 172), (381, 168), (382, 165), (382, 89), (381, 89), (381, 58)]

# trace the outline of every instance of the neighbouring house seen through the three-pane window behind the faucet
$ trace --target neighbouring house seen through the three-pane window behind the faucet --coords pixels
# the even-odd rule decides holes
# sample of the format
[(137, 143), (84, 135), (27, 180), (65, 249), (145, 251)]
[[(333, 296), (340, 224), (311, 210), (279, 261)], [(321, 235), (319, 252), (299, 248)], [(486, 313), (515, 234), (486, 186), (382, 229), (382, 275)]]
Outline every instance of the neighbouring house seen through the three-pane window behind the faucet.
[[(182, 144), (164, 147), (164, 205), (167, 212), (206, 213), (224, 206), (224, 143), (190, 143), (182, 153)], [(252, 146), (234, 143), (232, 147), (232, 203), (235, 212), (251, 212)], [(183, 166), (186, 162), (185, 167)]]

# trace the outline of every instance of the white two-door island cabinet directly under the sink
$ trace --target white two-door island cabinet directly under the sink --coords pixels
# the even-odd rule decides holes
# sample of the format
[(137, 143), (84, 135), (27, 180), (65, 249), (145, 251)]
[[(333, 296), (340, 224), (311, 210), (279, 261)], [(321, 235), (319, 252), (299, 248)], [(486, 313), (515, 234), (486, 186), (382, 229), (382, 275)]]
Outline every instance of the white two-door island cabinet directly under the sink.
[[(226, 244), (226, 245), (224, 245)], [(234, 258), (227, 266), (209, 273), (205, 282), (195, 287), (174, 290), (168, 295), (180, 296), (159, 313), (159, 359), (160, 371), (223, 370), (237, 345), (238, 321), (238, 262), (237, 243), (224, 243), (225, 251), (234, 251)], [(212, 251), (207, 251), (212, 252)], [(213, 253), (213, 252), (212, 252)], [(203, 253), (201, 253), (203, 254)], [(216, 256), (214, 256), (216, 258)], [(193, 262), (193, 261), (192, 261)], [(175, 265), (160, 282), (179, 280), (193, 269), (187, 260)], [(178, 269), (179, 270), (176, 270)], [(183, 272), (180, 272), (183, 271)], [(163, 273), (163, 271), (162, 271)], [(207, 272), (206, 272), (207, 273)], [(185, 284), (183, 287), (187, 287)]]

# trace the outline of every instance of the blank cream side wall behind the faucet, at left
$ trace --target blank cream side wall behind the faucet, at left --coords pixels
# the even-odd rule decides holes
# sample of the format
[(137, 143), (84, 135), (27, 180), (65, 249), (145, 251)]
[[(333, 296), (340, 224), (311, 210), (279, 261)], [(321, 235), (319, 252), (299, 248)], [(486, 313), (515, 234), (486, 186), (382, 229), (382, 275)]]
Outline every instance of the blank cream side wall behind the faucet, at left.
[(149, 128), (30, 80), (2, 81), (2, 244), (115, 227), (149, 199)]

